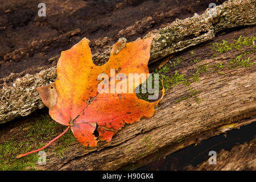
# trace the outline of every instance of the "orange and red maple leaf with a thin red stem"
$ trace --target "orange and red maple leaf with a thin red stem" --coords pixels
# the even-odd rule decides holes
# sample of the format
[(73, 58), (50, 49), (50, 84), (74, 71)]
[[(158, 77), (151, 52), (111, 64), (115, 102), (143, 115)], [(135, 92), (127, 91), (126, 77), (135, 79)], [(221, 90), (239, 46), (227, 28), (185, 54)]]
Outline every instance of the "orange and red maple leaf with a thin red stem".
[[(154, 106), (159, 100), (147, 102), (139, 99), (134, 92), (148, 77), (147, 64), (151, 41), (152, 37), (126, 44), (117, 42), (112, 48), (109, 61), (100, 66), (94, 65), (89, 40), (86, 38), (71, 49), (61, 52), (57, 63), (56, 81), (37, 88), (43, 103), (49, 108), (52, 119), (68, 126), (57, 138), (71, 128), (80, 143), (93, 147), (97, 146), (97, 138), (93, 135), (96, 128), (98, 139), (110, 142), (125, 123), (134, 123), (143, 116), (152, 117)], [(113, 71), (116, 78), (113, 77)], [(98, 85), (102, 84), (98, 76), (102, 73), (110, 82), (108, 88), (104, 88), (106, 93), (98, 91)], [(144, 73), (146, 77), (142, 77), (139, 82), (123, 77), (118, 79), (118, 75), (129, 73)], [(115, 90), (121, 81), (133, 85), (132, 93), (118, 93)], [(162, 97), (163, 95), (164, 90)], [(18, 155), (17, 158), (42, 150), (56, 139), (38, 150)]]

